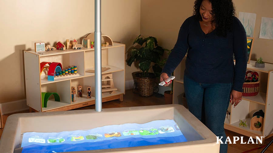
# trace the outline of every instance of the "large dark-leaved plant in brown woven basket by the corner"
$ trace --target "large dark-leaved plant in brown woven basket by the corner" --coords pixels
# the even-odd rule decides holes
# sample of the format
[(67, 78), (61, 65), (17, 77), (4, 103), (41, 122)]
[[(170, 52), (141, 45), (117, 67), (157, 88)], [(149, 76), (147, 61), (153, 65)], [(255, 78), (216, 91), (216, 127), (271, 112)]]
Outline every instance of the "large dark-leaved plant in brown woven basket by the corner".
[[(141, 73), (136, 73), (136, 81), (141, 96), (152, 96), (156, 77), (160, 76), (162, 67), (167, 59), (163, 59), (165, 50), (157, 44), (155, 37), (143, 37), (139, 35), (133, 42), (133, 46), (139, 44), (141, 47), (133, 47), (127, 52), (127, 65), (131, 66), (133, 62), (139, 62), (138, 66)], [(169, 50), (167, 50), (169, 51)], [(149, 70), (153, 69), (153, 73)]]

